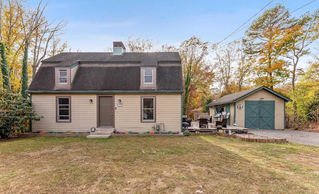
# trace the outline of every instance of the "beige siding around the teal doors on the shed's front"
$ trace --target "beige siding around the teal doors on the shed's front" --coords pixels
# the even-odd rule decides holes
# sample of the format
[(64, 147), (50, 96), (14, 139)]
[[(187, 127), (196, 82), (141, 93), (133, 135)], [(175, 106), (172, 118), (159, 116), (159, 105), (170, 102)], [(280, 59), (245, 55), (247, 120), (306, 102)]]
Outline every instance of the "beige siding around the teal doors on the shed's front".
[[(267, 92), (265, 90), (259, 90), (246, 98), (237, 101), (236, 106), (238, 104), (243, 105), (243, 109), (238, 110), (236, 108), (236, 125), (237, 127), (245, 127), (245, 101), (259, 101), (260, 98), (263, 101), (275, 101), (275, 129), (285, 129), (284, 121), (285, 121), (285, 101), (277, 96)], [(232, 108), (233, 109), (233, 108)]]

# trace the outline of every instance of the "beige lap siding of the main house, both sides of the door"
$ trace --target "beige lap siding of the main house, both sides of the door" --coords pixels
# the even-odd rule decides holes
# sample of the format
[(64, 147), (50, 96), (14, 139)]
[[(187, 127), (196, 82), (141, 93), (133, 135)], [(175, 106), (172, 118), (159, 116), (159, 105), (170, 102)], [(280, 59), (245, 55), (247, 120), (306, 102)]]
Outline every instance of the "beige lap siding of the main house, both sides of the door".
[[(71, 122), (56, 122), (56, 96), (71, 96)], [(156, 122), (141, 122), (141, 96), (156, 96)], [(119, 99), (122, 107), (117, 106)], [(180, 94), (116, 94), (114, 105), (116, 130), (152, 131), (152, 126), (159, 123), (164, 124), (166, 132), (181, 129)], [(96, 94), (32, 94), (32, 106), (37, 115), (44, 117), (32, 122), (32, 131), (86, 132), (97, 127)]]

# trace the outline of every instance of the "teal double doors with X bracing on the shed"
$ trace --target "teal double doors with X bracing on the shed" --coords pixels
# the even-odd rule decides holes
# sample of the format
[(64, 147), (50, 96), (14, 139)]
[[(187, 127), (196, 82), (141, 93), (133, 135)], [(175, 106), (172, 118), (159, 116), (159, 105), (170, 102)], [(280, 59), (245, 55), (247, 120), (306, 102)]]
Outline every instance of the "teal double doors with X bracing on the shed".
[(245, 128), (275, 129), (275, 101), (245, 101)]

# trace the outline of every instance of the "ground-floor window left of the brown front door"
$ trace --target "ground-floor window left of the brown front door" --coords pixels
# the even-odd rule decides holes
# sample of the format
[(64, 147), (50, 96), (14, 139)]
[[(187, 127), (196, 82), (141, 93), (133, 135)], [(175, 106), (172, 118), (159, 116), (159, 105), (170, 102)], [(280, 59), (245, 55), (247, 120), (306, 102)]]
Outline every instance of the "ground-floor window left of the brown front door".
[(56, 97), (56, 121), (71, 121), (71, 96)]

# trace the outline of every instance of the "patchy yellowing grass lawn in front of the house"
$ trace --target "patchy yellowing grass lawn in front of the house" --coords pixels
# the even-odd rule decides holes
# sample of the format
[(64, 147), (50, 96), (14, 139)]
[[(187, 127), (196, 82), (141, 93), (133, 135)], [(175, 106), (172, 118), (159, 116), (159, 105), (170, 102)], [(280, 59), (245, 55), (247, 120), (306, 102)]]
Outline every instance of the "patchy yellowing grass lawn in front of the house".
[(0, 194), (318, 194), (318, 188), (315, 146), (220, 136), (0, 141)]

